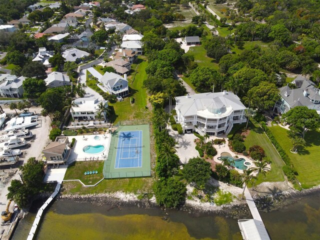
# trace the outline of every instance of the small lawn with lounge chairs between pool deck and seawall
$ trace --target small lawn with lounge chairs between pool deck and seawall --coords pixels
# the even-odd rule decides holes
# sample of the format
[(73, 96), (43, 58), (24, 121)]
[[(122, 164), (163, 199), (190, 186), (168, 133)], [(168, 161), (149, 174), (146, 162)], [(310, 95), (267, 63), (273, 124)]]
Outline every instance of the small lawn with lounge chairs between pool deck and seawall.
[[(103, 161), (75, 161), (66, 169), (64, 180), (79, 179), (85, 185), (93, 185), (103, 178)], [(97, 174), (84, 175), (85, 171), (95, 171)]]

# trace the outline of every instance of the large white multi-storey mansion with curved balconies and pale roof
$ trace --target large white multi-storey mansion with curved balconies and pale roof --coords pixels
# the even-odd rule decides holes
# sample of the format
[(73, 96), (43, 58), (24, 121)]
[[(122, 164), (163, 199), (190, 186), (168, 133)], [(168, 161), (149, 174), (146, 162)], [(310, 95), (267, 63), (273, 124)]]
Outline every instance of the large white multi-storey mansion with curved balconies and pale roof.
[(246, 107), (231, 91), (206, 92), (175, 97), (176, 122), (183, 132), (197, 131), (203, 135), (229, 133), (234, 123), (246, 121)]

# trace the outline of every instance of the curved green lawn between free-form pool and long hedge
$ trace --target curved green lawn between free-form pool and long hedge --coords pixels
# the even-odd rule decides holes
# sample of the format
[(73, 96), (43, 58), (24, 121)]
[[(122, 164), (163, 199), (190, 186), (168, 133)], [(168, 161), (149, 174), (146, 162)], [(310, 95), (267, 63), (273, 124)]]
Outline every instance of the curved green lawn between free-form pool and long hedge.
[(284, 181), (284, 175), (282, 171), (284, 162), (282, 161), (281, 157), (269, 141), (268, 137), (264, 134), (261, 127), (256, 122), (250, 121), (249, 127), (250, 133), (244, 140), (246, 150), (248, 150), (252, 145), (259, 145), (263, 147), (266, 156), (268, 156), (271, 160), (271, 170), (267, 172), (265, 176), (260, 174), (258, 176), (256, 184), (264, 181)]

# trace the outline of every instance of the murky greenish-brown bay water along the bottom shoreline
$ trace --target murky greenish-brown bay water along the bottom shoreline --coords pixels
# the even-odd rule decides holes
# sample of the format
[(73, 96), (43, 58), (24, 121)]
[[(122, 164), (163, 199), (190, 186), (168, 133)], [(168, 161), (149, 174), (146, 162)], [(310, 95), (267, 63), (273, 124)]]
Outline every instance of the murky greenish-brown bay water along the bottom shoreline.
[[(319, 199), (316, 193), (277, 211), (262, 212), (271, 239), (320, 239)], [(242, 239), (235, 219), (167, 212), (57, 200), (44, 215), (36, 239)], [(12, 239), (26, 239), (33, 217), (28, 214), (20, 221)]]

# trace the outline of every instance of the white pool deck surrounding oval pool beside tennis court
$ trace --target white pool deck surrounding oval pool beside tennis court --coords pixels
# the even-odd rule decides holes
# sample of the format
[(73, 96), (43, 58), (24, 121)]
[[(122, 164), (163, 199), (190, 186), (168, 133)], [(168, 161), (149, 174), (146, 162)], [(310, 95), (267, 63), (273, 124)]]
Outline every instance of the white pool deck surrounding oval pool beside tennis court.
[[(99, 136), (100, 139), (94, 139), (95, 136)], [(108, 149), (110, 145), (111, 134), (91, 134), (91, 135), (79, 135), (79, 136), (68, 136), (69, 142), (75, 138), (75, 143), (71, 148), (71, 152), (68, 160), (103, 160), (108, 155)], [(104, 150), (97, 154), (85, 153), (82, 149), (87, 145), (104, 145)]]

